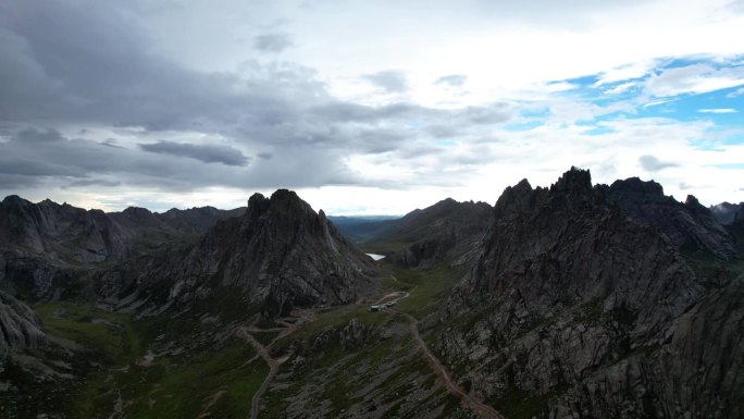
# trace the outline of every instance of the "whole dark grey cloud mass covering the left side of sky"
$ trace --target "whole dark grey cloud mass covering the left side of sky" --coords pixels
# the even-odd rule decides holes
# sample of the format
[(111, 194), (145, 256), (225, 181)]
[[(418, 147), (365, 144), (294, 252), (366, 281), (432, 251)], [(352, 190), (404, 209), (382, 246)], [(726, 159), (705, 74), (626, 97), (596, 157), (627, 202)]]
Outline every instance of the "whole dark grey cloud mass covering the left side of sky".
[[(426, 131), (434, 124), (457, 126), (449, 134), (458, 136), (512, 113), (504, 103), (461, 110), (348, 103), (331, 97), (313, 70), (286, 62), (193, 71), (158, 56), (140, 11), (127, 7), (0, 2), (3, 188), (44, 182), (170, 190), (355, 184), (362, 180), (346, 165), (351, 155), (394, 151), (411, 136), (436, 136), (437, 130)], [(281, 40), (256, 39), (264, 50), (282, 48)], [(365, 78), (388, 93), (408, 88), (400, 72)], [(63, 128), (71, 125), (76, 128)], [(97, 136), (99, 127), (129, 140)], [(178, 141), (161, 139), (170, 132), (179, 133)], [(220, 145), (204, 145), (206, 136), (219, 137)], [(421, 147), (419, 155), (425, 153), (442, 155)]]

